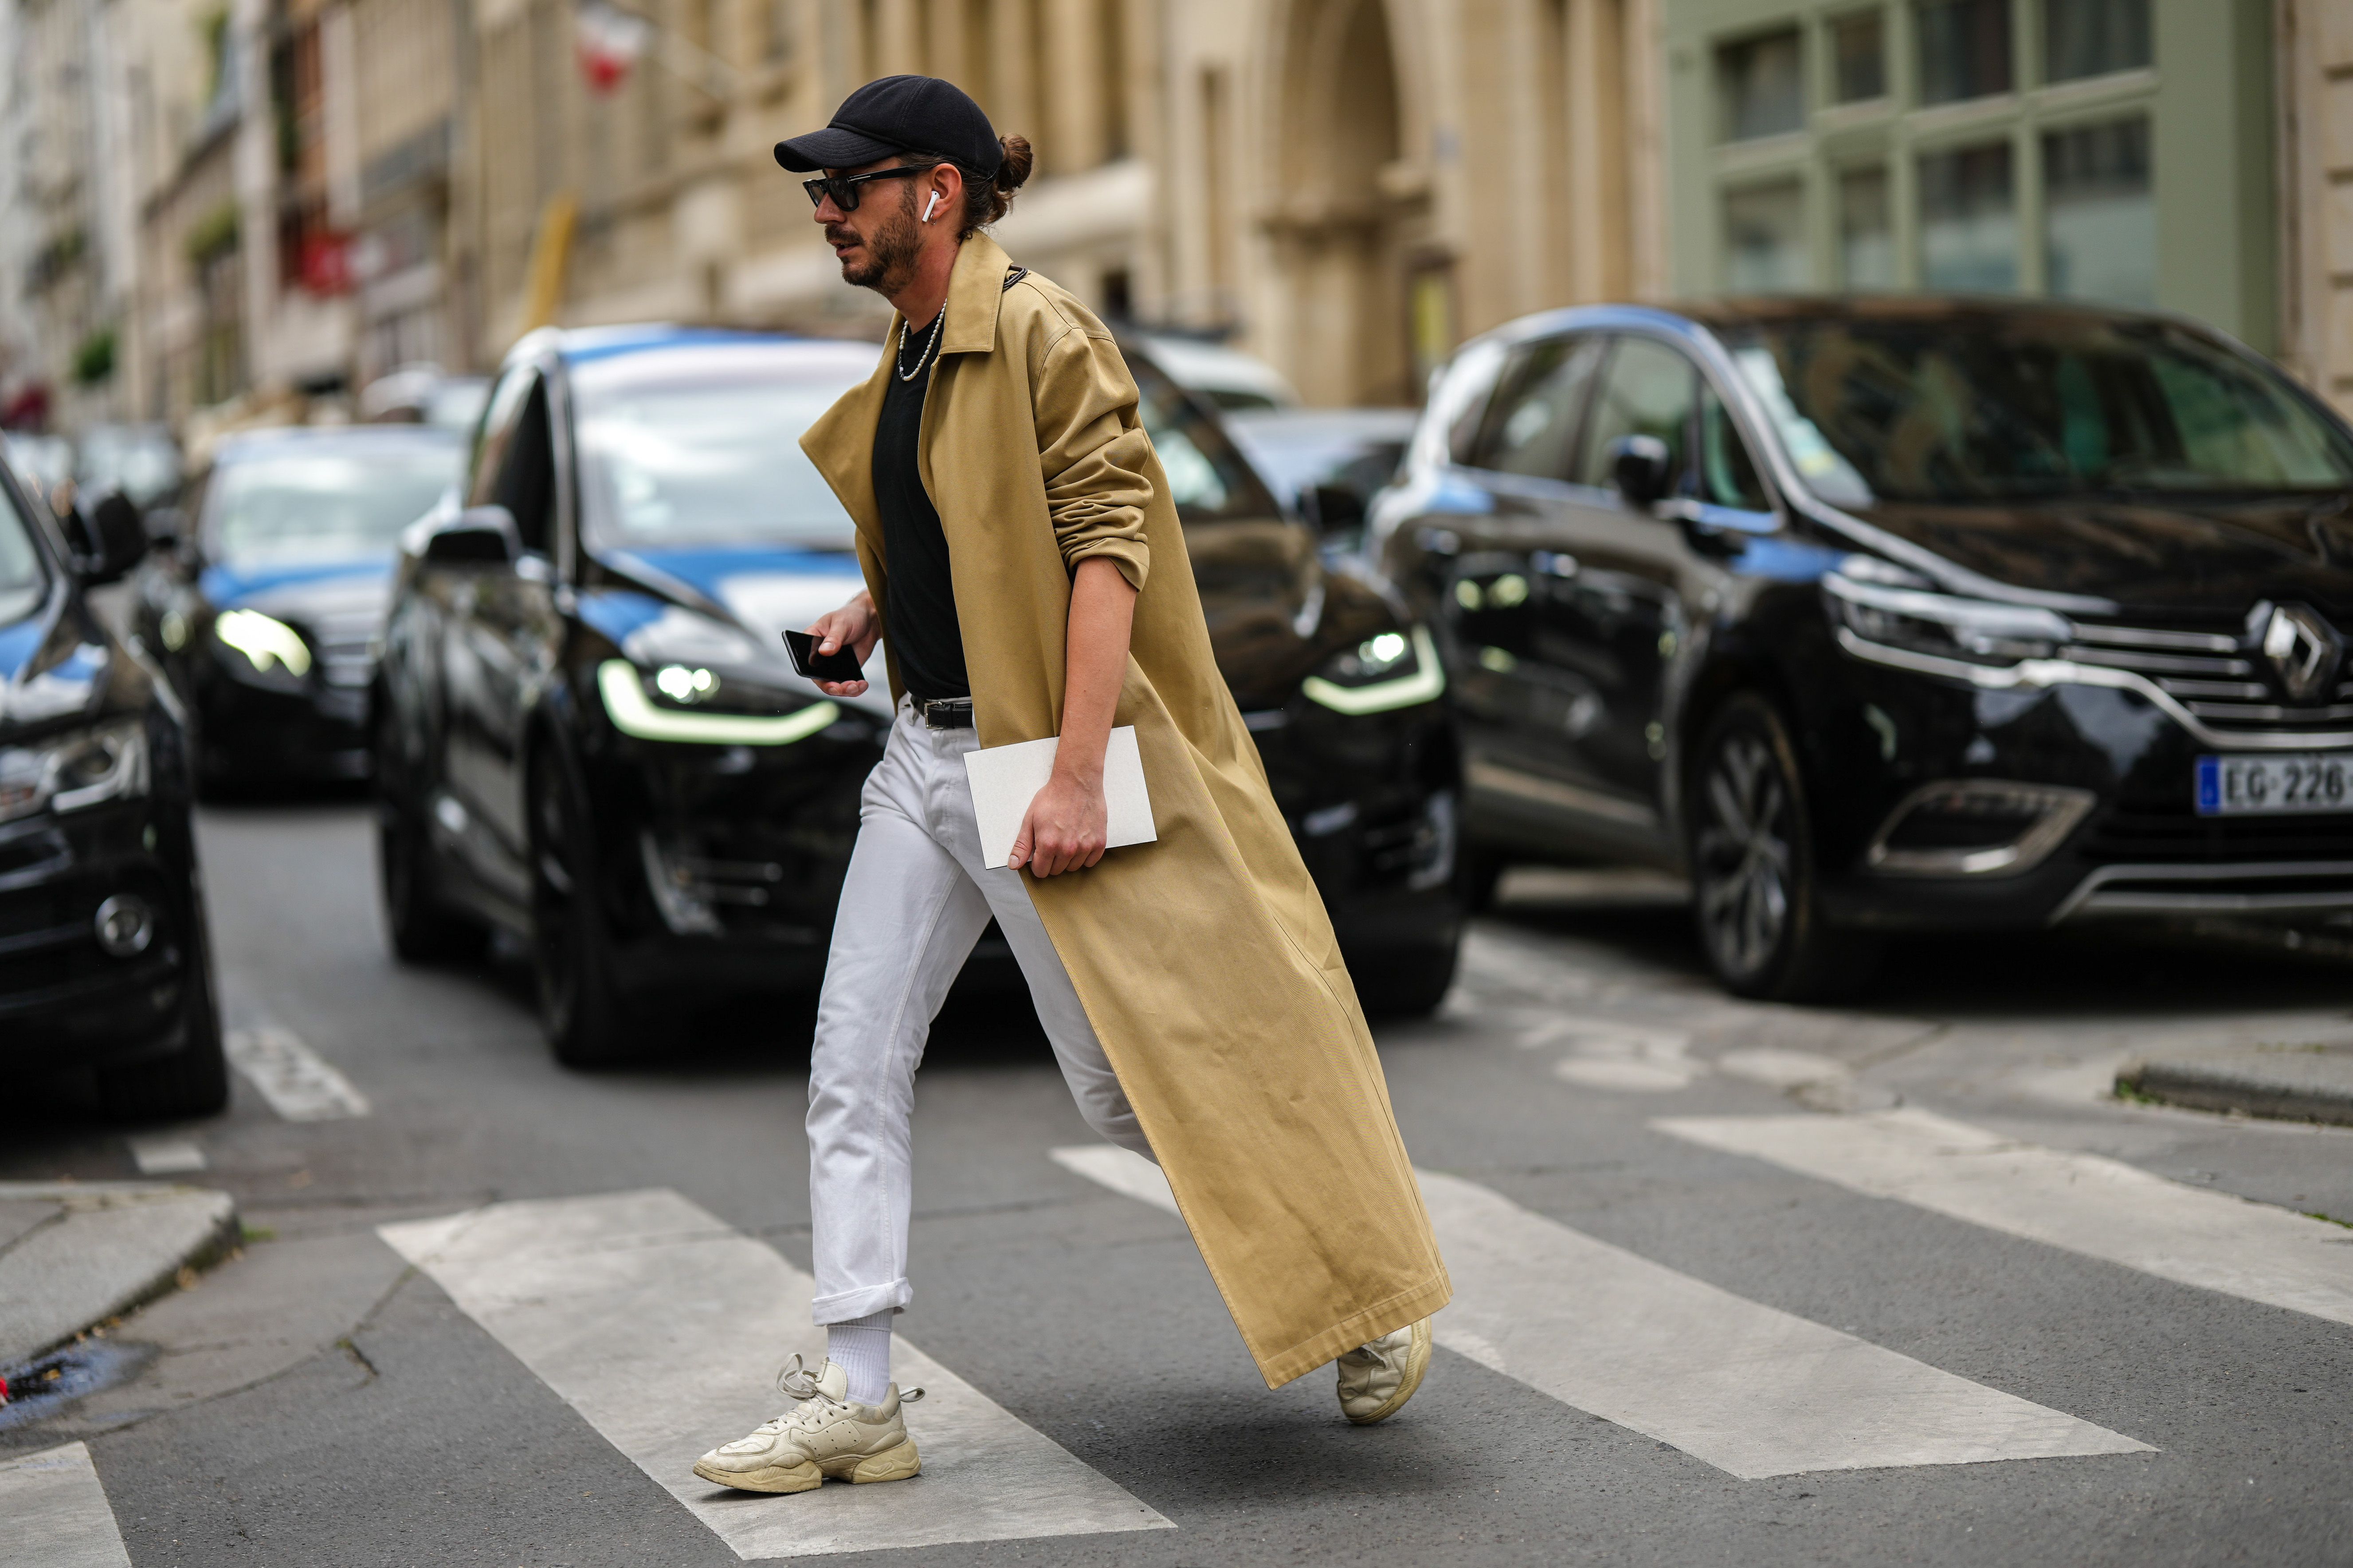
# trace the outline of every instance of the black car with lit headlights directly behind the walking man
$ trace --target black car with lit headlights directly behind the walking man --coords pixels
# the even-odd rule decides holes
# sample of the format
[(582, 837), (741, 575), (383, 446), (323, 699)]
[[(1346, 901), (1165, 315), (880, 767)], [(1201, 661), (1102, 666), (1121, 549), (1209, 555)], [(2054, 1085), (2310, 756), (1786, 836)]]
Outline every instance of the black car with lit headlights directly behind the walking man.
[[(859, 590), (798, 435), (861, 343), (544, 331), (508, 357), (464, 496), (405, 541), (372, 689), (402, 957), (520, 936), (558, 1056), (633, 1048), (664, 992), (805, 987), (889, 733), (779, 632)], [(1327, 569), (1146, 360), (1212, 642), (1369, 1006), (1428, 1011), (1461, 931), (1454, 736), (1426, 630)]]

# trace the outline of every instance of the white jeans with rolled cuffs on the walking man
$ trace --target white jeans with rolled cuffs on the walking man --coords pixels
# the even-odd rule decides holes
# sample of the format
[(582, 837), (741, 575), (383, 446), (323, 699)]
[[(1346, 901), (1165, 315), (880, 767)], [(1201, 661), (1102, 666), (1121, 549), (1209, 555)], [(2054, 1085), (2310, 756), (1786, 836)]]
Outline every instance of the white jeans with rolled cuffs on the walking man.
[(899, 703), (859, 797), (859, 842), (833, 917), (809, 1051), (814, 1319), (847, 1324), (906, 1307), (908, 1121), (932, 1016), (995, 917), (1021, 961), (1038, 1023), (1078, 1110), (1111, 1143), (1151, 1157), (1136, 1112), (1094, 1039), (1028, 872), (981, 865), (965, 752), (969, 729), (925, 729)]

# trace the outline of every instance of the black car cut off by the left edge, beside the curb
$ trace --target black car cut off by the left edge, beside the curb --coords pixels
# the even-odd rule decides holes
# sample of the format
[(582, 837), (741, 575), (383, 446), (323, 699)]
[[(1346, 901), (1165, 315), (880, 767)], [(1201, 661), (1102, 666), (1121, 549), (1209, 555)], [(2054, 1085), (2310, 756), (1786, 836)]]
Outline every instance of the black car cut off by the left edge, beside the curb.
[(144, 550), (120, 494), (61, 529), (0, 463), (0, 1072), (94, 1074), (115, 1117), (200, 1117), (228, 1067), (186, 726), (85, 599)]

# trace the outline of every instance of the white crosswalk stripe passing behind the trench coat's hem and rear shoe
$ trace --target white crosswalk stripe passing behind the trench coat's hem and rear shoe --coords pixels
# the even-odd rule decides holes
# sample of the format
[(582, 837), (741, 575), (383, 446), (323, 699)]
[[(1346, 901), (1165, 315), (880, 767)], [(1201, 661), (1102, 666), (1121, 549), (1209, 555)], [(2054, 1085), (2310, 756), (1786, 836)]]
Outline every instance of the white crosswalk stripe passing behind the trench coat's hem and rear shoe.
[[(1174, 1213), (1158, 1166), (1111, 1145), (1052, 1157)], [(1454, 1305), (1438, 1342), (1741, 1479), (1977, 1465), (2148, 1443), (1765, 1307), (1421, 1173)]]

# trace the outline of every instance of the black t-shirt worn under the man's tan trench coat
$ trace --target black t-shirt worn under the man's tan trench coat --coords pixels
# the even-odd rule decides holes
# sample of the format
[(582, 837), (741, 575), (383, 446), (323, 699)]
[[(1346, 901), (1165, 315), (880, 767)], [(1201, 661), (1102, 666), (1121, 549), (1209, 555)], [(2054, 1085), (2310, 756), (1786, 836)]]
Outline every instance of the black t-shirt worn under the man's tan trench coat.
[[(904, 346), (894, 339), (894, 348), (913, 362), (925, 336), (908, 331)], [(882, 390), (882, 418), (875, 421), (875, 508), (882, 512), (882, 569), (889, 574), (882, 635), (899, 661), (899, 679), (920, 698), (972, 696), (955, 585), (948, 581), (948, 536), (915, 470), (922, 393), (936, 362), (934, 355), (913, 381), (901, 381), (894, 362)]]

